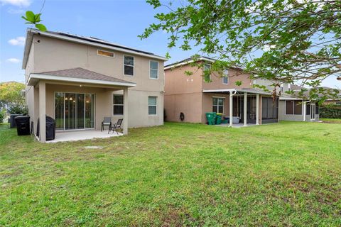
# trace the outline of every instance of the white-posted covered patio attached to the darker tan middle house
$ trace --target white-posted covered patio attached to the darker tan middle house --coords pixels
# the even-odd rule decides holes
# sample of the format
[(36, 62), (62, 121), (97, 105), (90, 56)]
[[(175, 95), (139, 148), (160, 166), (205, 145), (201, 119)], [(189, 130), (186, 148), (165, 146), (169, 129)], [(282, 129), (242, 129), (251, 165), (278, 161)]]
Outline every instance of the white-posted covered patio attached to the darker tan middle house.
[[(228, 124), (221, 126), (229, 127), (245, 127), (257, 126), (261, 123), (268, 123), (268, 114), (272, 115), (269, 118), (272, 121), (274, 118), (274, 107), (267, 104), (267, 99), (271, 97), (271, 93), (265, 92), (261, 89), (242, 88), (242, 89), (212, 89), (203, 90), (205, 94), (228, 94)], [(272, 98), (271, 98), (272, 99)], [(278, 108), (278, 107), (277, 107)], [(270, 114), (269, 114), (270, 115)], [(276, 111), (276, 118), (278, 119), (278, 111)], [(232, 121), (233, 118), (239, 118), (238, 123)], [(262, 122), (264, 121), (264, 122)], [(269, 121), (269, 123), (271, 122)]]

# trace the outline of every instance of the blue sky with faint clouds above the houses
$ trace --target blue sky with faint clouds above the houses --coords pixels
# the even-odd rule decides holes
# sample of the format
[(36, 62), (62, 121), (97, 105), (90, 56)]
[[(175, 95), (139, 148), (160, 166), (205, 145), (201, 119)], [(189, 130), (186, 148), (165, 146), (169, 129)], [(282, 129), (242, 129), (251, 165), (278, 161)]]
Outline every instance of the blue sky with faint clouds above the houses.
[[(42, 5), (43, 0), (0, 0), (0, 82), (23, 82), (21, 60), (27, 25), (21, 16), (26, 10), (37, 13)], [(146, 40), (137, 37), (156, 22), (153, 16), (162, 10), (166, 11), (155, 10), (144, 0), (46, 0), (42, 19), (50, 31), (93, 36), (163, 56), (170, 52), (172, 58), (166, 64), (195, 54), (195, 50), (168, 50), (167, 35), (162, 32)], [(341, 88), (335, 77), (326, 79), (323, 85)]]

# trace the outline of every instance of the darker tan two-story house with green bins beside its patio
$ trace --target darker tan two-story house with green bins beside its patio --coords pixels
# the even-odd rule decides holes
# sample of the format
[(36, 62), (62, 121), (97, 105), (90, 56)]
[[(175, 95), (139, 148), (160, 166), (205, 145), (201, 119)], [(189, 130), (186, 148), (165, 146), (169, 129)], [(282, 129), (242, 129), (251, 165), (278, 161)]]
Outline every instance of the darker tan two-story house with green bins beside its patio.
[[(196, 59), (204, 63), (204, 68), (210, 67), (214, 59), (200, 57)], [(234, 116), (240, 122), (247, 124), (261, 124), (278, 122), (278, 99), (273, 99), (270, 92), (254, 88), (254, 84), (269, 84), (264, 80), (250, 79), (241, 69), (225, 70), (226, 77), (210, 74), (212, 82), (205, 82), (202, 68), (193, 67), (188, 58), (165, 67), (164, 103), (166, 121), (207, 123), (206, 112), (217, 112), (223, 116)], [(193, 72), (186, 76), (185, 71)], [(241, 81), (240, 86), (236, 85)], [(229, 121), (229, 126), (233, 122)]]

